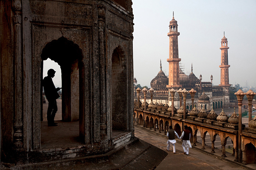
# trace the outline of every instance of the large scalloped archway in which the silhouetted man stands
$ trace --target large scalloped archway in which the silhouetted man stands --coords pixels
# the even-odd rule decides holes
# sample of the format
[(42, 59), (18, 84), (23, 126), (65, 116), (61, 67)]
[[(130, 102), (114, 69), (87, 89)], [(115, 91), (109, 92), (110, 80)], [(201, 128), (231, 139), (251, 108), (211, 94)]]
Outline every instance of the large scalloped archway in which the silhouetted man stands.
[[(61, 37), (58, 40), (53, 40), (45, 45), (45, 47), (42, 49), (41, 59), (41, 99), (43, 97), (42, 89), (44, 86), (45, 94), (48, 91), (48, 95), (46, 95), (47, 101), (51, 101), (53, 105), (53, 110), (51, 108), (49, 111), (48, 109), (45, 109), (48, 106), (41, 107), (41, 113), (43, 113), (42, 115), (48, 114), (49, 117), (48, 125), (46, 121), (41, 122), (41, 148), (52, 148), (54, 147), (53, 145), (58, 147), (68, 147), (70, 145), (74, 145), (74, 143), (76, 145), (77, 143), (81, 144), (81, 142), (85, 142), (83, 139), (85, 137), (83, 119), (83, 108), (85, 103), (83, 90), (84, 83), (82, 83), (84, 82), (85, 77), (84, 63), (82, 62), (83, 52), (73, 41), (70, 41), (65, 37)], [(49, 59), (56, 62), (60, 67), (60, 70), (55, 70), (56, 76), (53, 78), (53, 80), (58, 80), (57, 83), (55, 82), (55, 87), (62, 86), (62, 100), (57, 104), (55, 104), (57, 95), (54, 95), (56, 94), (57, 90), (52, 83), (52, 76), (47, 76), (48, 78), (46, 79), (43, 77), (43, 73), (45, 71), (47, 72), (47, 68), (52, 67), (48, 62)], [(60, 75), (62, 80), (61, 84), (59, 83), (60, 77), (57, 77)], [(61, 111), (61, 115), (57, 114), (57, 116), (54, 116), (56, 107), (58, 107), (58, 110)], [(45, 116), (42, 118), (45, 120)], [(58, 123), (58, 125), (56, 125), (56, 122), (53, 123), (53, 119), (55, 121), (62, 121), (56, 121)], [(72, 123), (67, 124), (65, 122)], [(68, 129), (72, 129), (72, 133), (63, 133)], [(49, 130), (54, 132), (49, 135)], [(64, 146), (59, 146), (59, 140), (65, 141), (62, 142)]]

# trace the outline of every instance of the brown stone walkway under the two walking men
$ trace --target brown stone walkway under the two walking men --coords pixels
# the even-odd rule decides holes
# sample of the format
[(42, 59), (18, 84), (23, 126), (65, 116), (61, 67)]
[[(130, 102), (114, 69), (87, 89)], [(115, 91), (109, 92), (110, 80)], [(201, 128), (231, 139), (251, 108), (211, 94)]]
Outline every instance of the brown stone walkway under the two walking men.
[[(142, 139), (149, 144), (157, 146), (158, 148), (166, 150), (167, 137), (161, 134), (150, 132), (150, 130), (143, 127), (135, 126), (135, 136)], [(183, 148), (180, 143), (176, 143), (176, 153), (172, 152), (172, 146), (165, 159), (157, 166), (155, 170), (165, 169), (187, 169), (187, 170), (241, 170), (247, 169), (237, 164), (225, 162), (210, 155), (204, 154), (198, 150), (189, 148), (189, 155), (183, 154)], [(157, 155), (156, 155), (157, 156)]]

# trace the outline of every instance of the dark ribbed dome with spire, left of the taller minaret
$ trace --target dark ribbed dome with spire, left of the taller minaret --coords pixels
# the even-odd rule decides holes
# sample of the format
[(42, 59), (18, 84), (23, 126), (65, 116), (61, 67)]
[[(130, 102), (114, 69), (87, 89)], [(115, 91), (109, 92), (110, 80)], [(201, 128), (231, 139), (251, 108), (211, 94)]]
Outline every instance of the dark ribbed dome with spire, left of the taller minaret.
[(168, 90), (166, 85), (169, 84), (169, 79), (166, 77), (164, 72), (162, 71), (162, 64), (160, 61), (160, 71), (155, 78), (153, 78), (150, 82), (150, 86), (155, 90)]

